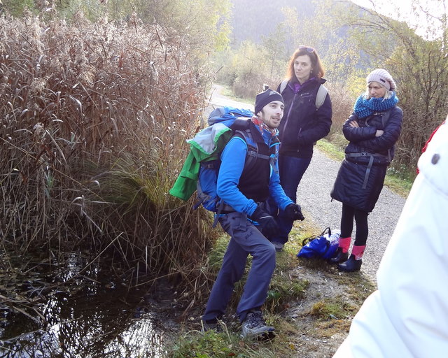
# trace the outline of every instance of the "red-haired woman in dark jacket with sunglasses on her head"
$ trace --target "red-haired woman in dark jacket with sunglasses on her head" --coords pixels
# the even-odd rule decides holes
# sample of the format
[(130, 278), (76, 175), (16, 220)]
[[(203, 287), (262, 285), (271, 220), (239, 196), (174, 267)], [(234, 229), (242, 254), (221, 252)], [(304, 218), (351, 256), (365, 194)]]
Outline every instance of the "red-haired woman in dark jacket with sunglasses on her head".
[[(281, 187), (289, 198), (296, 202), (297, 187), (307, 170), (313, 146), (325, 137), (331, 127), (331, 100), (325, 83), (321, 60), (314, 48), (300, 46), (291, 56), (287, 79), (277, 92), (285, 102), (285, 114), (279, 127), (279, 174)], [(323, 91), (322, 91), (323, 90)], [(320, 100), (321, 99), (321, 100)], [(277, 251), (288, 241), (293, 221), (275, 206), (271, 210), (279, 225), (279, 233), (269, 238)]]

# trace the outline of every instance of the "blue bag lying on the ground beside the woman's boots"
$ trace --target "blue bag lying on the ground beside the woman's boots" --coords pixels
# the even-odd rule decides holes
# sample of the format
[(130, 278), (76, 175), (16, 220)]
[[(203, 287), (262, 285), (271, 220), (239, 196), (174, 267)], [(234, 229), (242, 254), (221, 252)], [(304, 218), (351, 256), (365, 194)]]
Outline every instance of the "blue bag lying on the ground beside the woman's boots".
[(325, 228), (322, 234), (310, 236), (302, 241), (302, 248), (297, 257), (330, 259), (339, 247), (339, 232), (331, 233), (330, 227)]

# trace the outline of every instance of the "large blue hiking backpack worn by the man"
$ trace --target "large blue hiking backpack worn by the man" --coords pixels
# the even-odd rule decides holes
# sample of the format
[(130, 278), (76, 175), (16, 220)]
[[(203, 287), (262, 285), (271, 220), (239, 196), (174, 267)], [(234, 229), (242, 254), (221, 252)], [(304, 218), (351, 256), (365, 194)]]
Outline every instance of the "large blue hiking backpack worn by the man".
[[(270, 155), (262, 155), (258, 153), (258, 145), (255, 141), (253, 141), (248, 122), (252, 115), (251, 110), (241, 110), (233, 107), (219, 107), (209, 115), (208, 123), (209, 126), (217, 127), (224, 124), (226, 127), (232, 129), (232, 137), (239, 136), (244, 139), (248, 150), (243, 171), (253, 166), (256, 158), (269, 160), (272, 168), (276, 171), (278, 145), (272, 146)], [(206, 129), (203, 129), (203, 131)], [(211, 159), (204, 160), (200, 163), (196, 190), (197, 203), (194, 206), (194, 208), (198, 208), (202, 205), (207, 210), (213, 211), (218, 215), (223, 211), (235, 211), (231, 206), (228, 206), (221, 201), (221, 198), (219, 198), (216, 193), (218, 172), (219, 167), (221, 166), (221, 152), (222, 150), (220, 152), (215, 152), (215, 155), (211, 157)], [(217, 224), (218, 215), (216, 215), (216, 220), (213, 225), (214, 227)]]

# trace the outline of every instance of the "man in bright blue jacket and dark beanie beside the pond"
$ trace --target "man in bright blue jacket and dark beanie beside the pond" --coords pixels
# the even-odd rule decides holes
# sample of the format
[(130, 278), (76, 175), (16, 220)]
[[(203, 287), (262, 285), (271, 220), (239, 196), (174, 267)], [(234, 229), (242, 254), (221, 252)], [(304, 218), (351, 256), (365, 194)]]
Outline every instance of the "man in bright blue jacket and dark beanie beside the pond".
[(204, 330), (219, 329), (218, 320), (225, 313), (235, 282), (244, 274), (250, 254), (252, 265), (237, 306), (241, 336), (274, 337), (274, 327), (267, 326), (261, 312), (274, 273), (276, 254), (274, 245), (265, 236), (272, 236), (278, 230), (274, 218), (265, 210), (265, 202), (272, 197), (291, 220), (304, 220), (304, 217), (300, 206), (281, 188), (276, 160), (256, 157), (255, 165), (245, 167), (244, 163), (248, 151), (246, 141), (253, 140), (256, 144), (250, 144), (266, 157), (272, 153), (272, 146), (279, 145), (276, 128), (283, 117), (283, 108), (283, 98), (278, 92), (268, 89), (258, 94), (255, 116), (248, 120), (251, 138), (233, 136), (221, 155), (217, 192), (226, 207), (233, 210), (220, 215), (219, 222), (230, 235), (230, 242), (202, 316)]

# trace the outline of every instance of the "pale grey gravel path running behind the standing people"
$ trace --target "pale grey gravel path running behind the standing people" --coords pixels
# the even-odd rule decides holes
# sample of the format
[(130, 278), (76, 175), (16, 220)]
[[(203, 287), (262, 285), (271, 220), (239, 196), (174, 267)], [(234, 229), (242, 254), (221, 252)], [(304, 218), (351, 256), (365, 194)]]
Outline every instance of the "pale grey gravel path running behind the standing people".
[[(230, 100), (220, 92), (221, 86), (215, 85), (209, 108), (234, 106), (253, 110), (253, 105)], [(206, 117), (209, 112), (210, 109), (205, 113)], [(311, 164), (304, 173), (297, 190), (297, 203), (302, 206), (305, 220), (311, 220), (321, 231), (325, 227), (339, 229), (342, 204), (339, 201), (331, 201), (330, 198), (330, 191), (335, 182), (339, 165), (340, 162), (326, 157), (315, 148)], [(377, 205), (369, 215), (369, 237), (361, 271), (371, 276), (372, 279), (375, 279), (379, 262), (386, 250), (389, 238), (393, 234), (404, 204), (405, 198), (384, 187)], [(356, 226), (353, 228), (353, 236), (355, 229)]]

